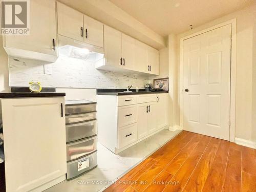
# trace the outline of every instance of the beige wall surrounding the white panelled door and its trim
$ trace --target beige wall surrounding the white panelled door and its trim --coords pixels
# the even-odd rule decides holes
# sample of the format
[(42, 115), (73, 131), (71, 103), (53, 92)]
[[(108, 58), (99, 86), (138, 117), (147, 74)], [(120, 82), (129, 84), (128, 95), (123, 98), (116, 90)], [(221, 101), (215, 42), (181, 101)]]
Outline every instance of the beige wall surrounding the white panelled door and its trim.
[[(211, 26), (223, 23), (227, 20), (237, 18), (237, 90), (236, 90), (236, 137), (256, 141), (256, 59), (255, 59), (255, 5), (252, 5), (243, 10), (223, 16), (219, 19), (213, 20), (203, 26), (194, 28), (193, 30), (177, 35), (177, 54), (170, 54), (169, 58), (175, 57), (177, 62), (177, 76), (174, 77), (175, 85), (179, 88), (180, 82), (180, 38), (209, 28)], [(254, 28), (254, 29), (253, 29)], [(254, 34), (254, 37), (253, 37)], [(170, 36), (169, 36), (170, 37)], [(253, 46), (254, 44), (254, 46)], [(170, 45), (169, 45), (170, 46)], [(253, 66), (254, 63), (254, 66)], [(169, 63), (170, 68), (173, 63)], [(252, 70), (254, 69), (254, 70)], [(254, 79), (254, 80), (252, 80)], [(253, 94), (252, 94), (252, 91)], [(177, 99), (175, 103), (179, 106), (179, 91), (175, 92)], [(252, 104), (254, 107), (252, 109)], [(173, 124), (180, 125), (180, 108), (175, 111), (176, 118)], [(253, 123), (254, 121), (254, 123)]]

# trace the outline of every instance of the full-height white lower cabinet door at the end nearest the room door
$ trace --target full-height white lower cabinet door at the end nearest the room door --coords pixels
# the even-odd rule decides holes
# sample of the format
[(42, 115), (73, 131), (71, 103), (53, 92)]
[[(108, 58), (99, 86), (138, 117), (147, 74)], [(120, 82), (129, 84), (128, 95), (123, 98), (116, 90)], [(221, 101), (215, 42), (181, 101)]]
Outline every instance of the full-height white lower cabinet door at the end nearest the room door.
[(161, 129), (167, 125), (167, 94), (157, 95), (157, 127)]

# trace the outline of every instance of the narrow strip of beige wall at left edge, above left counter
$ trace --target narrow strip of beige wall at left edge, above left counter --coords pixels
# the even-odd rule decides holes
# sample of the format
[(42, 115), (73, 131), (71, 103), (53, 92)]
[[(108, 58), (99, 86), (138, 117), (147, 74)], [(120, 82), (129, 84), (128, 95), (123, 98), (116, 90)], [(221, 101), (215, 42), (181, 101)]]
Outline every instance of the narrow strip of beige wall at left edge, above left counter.
[(9, 92), (8, 57), (0, 35), (0, 92)]

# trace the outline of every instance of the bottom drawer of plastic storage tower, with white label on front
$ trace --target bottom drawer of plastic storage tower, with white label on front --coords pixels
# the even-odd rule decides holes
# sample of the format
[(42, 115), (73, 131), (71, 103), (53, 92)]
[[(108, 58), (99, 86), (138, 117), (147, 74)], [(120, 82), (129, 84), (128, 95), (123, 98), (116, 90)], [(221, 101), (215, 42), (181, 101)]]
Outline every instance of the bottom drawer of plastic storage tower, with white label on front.
[(97, 166), (97, 151), (67, 163), (67, 179), (74, 179)]

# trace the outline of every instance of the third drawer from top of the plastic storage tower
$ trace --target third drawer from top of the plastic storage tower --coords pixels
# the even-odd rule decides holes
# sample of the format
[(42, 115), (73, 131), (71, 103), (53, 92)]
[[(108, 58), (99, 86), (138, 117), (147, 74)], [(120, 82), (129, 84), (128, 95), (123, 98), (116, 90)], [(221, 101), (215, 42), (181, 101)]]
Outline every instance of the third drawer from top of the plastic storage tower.
[(96, 120), (66, 125), (66, 142), (76, 141), (96, 134)]

